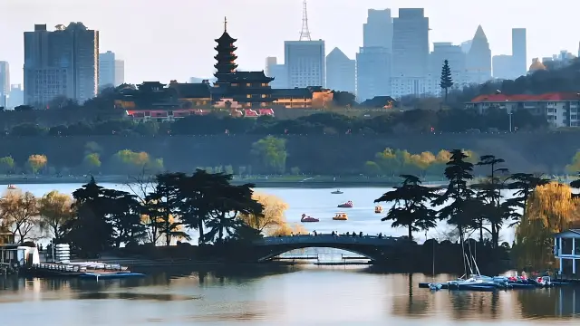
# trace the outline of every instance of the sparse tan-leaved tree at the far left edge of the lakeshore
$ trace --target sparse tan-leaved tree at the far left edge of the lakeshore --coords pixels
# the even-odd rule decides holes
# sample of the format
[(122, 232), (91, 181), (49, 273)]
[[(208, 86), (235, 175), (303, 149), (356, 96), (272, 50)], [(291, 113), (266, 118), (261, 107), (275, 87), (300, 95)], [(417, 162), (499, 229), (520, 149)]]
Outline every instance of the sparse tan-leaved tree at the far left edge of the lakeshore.
[[(2, 219), (12, 226), (12, 235), (20, 244), (28, 240), (28, 235), (38, 225), (38, 201), (30, 192), (8, 191), (0, 199)], [(18, 236), (16, 236), (18, 235)]]

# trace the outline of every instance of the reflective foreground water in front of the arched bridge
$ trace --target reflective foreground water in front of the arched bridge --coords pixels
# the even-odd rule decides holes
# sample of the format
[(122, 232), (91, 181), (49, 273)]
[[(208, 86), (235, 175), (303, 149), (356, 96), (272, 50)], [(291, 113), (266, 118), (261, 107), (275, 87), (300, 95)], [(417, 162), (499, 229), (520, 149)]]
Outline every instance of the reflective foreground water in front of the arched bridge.
[[(417, 320), (429, 318), (433, 326), (447, 325), (449, 321), (476, 322), (475, 325), (479, 325), (477, 321), (494, 321), (499, 325), (537, 319), (577, 324), (580, 317), (580, 288), (574, 287), (430, 292), (419, 289), (418, 284), (442, 282), (454, 276), (391, 274), (353, 267), (183, 268), (148, 274), (142, 279), (99, 282), (0, 278), (0, 309), (18, 312), (14, 316), (34, 312), (44, 318), (51, 318), (54, 311), (73, 311), (60, 322), (63, 326), (75, 324), (74, 316), (85, 315), (91, 324), (395, 321), (414, 325), (413, 322), (424, 322)], [(43, 304), (26, 304), (24, 311), (20, 302)], [(38, 317), (37, 321), (42, 322), (43, 318)]]

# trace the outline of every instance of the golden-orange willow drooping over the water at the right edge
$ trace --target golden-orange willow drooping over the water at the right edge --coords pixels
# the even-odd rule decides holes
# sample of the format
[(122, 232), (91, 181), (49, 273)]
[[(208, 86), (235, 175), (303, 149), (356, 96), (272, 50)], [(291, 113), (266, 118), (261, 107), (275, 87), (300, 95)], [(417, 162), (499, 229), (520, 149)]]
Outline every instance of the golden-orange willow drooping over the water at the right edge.
[(514, 254), (519, 267), (547, 268), (555, 264), (554, 235), (580, 221), (579, 204), (572, 188), (566, 185), (552, 182), (536, 187), (516, 230)]

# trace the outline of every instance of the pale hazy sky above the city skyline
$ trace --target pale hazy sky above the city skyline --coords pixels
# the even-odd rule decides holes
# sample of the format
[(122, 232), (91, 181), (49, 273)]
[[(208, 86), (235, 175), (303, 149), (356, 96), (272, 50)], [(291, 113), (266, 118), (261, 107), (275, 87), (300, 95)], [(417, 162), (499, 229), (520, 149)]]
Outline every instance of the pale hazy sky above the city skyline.
[[(511, 53), (511, 28), (527, 28), (527, 56), (577, 53), (580, 2), (551, 5), (545, 0), (309, 0), (314, 39), (326, 53), (338, 46), (354, 58), (362, 45), (367, 9), (424, 7), (430, 43), (460, 43), (483, 26), (492, 53)], [(22, 82), (24, 31), (34, 24), (82, 22), (101, 32), (101, 52), (125, 60), (127, 82), (207, 77), (213, 73), (214, 39), (228, 32), (237, 42), (243, 70), (263, 70), (266, 56), (284, 60), (284, 41), (297, 40), (302, 0), (0, 0), (0, 61), (11, 65), (12, 82)]]

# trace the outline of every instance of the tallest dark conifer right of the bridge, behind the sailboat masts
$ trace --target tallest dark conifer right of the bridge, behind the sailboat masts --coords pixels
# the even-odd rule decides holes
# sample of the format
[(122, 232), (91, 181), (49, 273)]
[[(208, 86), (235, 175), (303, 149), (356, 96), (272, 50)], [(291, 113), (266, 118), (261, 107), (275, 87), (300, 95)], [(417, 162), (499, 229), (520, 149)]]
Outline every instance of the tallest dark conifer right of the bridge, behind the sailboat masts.
[[(477, 201), (473, 199), (474, 191), (468, 187), (468, 181), (473, 179), (473, 164), (469, 163), (467, 155), (461, 149), (451, 150), (451, 158), (445, 168), (445, 177), (449, 180), (449, 185), (445, 193), (433, 201), (434, 205), (440, 206), (446, 201), (452, 202), (443, 206), (439, 211), (441, 219), (447, 219), (447, 223), (457, 226), (459, 230), (459, 241), (461, 246), (465, 242), (465, 230), (469, 226), (474, 226), (473, 213)], [(463, 256), (465, 264), (465, 255)]]

